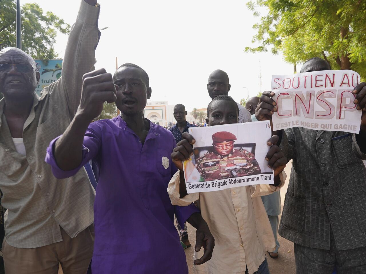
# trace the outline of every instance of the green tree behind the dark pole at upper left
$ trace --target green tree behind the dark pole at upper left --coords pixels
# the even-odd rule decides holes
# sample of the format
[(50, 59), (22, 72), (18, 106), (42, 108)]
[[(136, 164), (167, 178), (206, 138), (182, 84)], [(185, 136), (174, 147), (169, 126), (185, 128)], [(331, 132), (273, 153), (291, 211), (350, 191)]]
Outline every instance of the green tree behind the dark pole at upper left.
[[(67, 34), (70, 25), (38, 4), (24, 4), (22, 11), (22, 50), (34, 59), (54, 59), (57, 31)], [(0, 0), (0, 50), (16, 46), (16, 1)]]

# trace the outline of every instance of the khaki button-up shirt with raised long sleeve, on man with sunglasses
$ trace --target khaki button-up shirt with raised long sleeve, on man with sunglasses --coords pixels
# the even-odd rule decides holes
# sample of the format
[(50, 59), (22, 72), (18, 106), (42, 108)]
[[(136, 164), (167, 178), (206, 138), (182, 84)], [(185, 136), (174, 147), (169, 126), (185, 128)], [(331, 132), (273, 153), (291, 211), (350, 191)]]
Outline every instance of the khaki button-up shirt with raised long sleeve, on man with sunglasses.
[(5, 240), (13, 247), (36, 248), (62, 241), (93, 223), (95, 192), (85, 170), (57, 180), (44, 161), (49, 142), (70, 124), (80, 102), (82, 76), (93, 70), (99, 35), (99, 8), (82, 1), (71, 29), (61, 78), (34, 95), (23, 130), (25, 155), (18, 153), (0, 101), (0, 189), (8, 209)]

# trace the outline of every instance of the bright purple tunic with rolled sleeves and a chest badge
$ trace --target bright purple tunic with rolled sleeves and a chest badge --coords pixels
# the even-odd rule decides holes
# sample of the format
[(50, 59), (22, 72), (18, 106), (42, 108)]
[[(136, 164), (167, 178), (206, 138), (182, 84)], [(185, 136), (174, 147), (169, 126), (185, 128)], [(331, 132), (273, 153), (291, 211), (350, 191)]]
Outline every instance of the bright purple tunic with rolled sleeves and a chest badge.
[[(48, 148), (46, 161), (56, 177), (71, 176), (57, 167)], [(187, 274), (186, 257), (174, 226), (199, 210), (193, 204), (172, 206), (167, 186), (176, 167), (171, 153), (176, 142), (168, 130), (150, 122), (145, 143), (120, 116), (91, 123), (83, 150), (85, 165), (99, 167), (94, 204), (93, 273)]]

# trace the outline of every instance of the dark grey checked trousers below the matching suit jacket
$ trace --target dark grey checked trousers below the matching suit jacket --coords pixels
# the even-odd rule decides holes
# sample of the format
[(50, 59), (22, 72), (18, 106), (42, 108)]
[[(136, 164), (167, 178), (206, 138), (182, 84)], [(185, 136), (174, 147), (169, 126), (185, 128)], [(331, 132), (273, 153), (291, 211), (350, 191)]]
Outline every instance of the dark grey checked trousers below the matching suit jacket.
[(296, 274), (366, 273), (366, 247), (337, 250), (334, 244), (330, 250), (304, 247), (294, 244)]

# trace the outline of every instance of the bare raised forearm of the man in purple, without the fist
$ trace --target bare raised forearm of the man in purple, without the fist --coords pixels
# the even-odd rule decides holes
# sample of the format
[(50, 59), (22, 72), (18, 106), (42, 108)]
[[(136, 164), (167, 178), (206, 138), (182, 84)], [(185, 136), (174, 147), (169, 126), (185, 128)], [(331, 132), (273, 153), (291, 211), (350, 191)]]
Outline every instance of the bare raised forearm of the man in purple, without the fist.
[(77, 168), (82, 162), (82, 149), (85, 131), (90, 121), (76, 114), (64, 134), (55, 143), (55, 159), (64, 171)]

